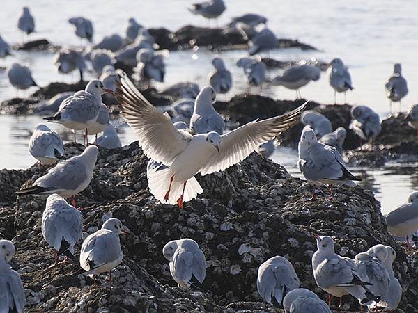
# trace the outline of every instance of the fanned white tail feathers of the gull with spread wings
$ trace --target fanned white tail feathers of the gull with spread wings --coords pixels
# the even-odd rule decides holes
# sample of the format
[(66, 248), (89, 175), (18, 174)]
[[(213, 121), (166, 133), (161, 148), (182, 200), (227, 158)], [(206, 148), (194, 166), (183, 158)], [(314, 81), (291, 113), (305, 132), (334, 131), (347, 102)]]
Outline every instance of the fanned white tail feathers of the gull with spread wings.
[[(148, 176), (148, 186), (150, 192), (154, 195), (155, 199), (160, 200), (164, 204), (177, 204), (177, 200), (180, 198), (183, 191), (183, 183), (176, 182), (173, 180), (171, 183), (169, 200), (165, 201), (164, 196), (169, 190), (170, 179), (173, 176), (173, 173), (170, 171), (170, 168), (164, 168), (161, 170), (150, 170), (147, 172)], [(185, 193), (183, 195), (183, 202), (187, 202), (196, 198), (199, 193), (203, 193), (202, 187), (197, 182), (196, 178), (192, 177), (187, 180), (185, 186)]]

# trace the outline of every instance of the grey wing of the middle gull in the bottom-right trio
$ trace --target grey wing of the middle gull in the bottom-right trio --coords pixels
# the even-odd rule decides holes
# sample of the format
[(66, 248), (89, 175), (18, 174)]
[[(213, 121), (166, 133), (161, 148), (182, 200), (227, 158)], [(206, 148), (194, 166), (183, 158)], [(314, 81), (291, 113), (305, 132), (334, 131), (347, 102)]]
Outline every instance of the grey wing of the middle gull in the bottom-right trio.
[(367, 287), (372, 294), (375, 296), (386, 294), (389, 289), (390, 276), (382, 262), (367, 253), (359, 253), (355, 257), (355, 265), (359, 277), (373, 284)]

